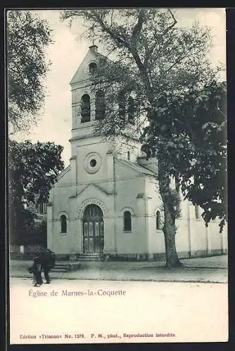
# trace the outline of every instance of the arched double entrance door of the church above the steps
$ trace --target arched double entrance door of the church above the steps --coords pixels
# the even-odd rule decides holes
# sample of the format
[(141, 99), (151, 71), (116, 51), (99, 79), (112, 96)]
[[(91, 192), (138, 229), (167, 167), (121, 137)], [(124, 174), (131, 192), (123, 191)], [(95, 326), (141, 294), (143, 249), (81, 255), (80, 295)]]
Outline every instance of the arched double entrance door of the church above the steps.
[(83, 215), (84, 253), (103, 253), (103, 212), (97, 205), (88, 205)]

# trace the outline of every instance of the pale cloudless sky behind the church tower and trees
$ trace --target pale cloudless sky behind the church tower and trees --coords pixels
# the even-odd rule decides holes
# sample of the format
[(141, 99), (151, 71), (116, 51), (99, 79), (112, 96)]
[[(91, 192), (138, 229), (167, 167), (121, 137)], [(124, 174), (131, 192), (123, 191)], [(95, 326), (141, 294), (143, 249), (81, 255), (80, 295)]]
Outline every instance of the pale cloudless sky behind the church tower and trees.
[[(215, 64), (226, 62), (226, 20), (224, 8), (179, 8), (173, 9), (179, 26), (190, 26), (198, 21), (202, 26), (212, 29), (214, 47), (210, 58)], [(72, 108), (70, 80), (86, 55), (90, 42), (79, 39), (83, 31), (81, 22), (75, 21), (72, 27), (62, 22), (58, 10), (39, 10), (37, 14), (48, 20), (53, 29), (53, 44), (46, 50), (46, 57), (51, 61), (47, 74), (45, 99), (42, 118), (37, 126), (27, 135), (17, 135), (18, 140), (30, 139), (46, 142), (53, 141), (63, 145), (63, 161), (68, 166), (70, 159), (70, 135), (72, 126)], [(101, 51), (102, 53), (102, 51)], [(224, 76), (225, 77), (225, 76)]]

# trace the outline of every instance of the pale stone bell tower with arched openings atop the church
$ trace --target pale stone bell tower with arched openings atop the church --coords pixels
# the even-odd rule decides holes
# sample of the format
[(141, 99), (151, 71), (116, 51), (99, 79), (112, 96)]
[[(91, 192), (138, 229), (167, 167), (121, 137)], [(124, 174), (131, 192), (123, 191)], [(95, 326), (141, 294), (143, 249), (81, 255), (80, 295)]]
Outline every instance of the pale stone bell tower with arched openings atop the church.
[[(72, 138), (70, 158), (72, 183), (79, 185), (112, 178), (113, 158), (136, 162), (139, 156), (139, 140), (121, 138), (105, 140), (95, 133), (97, 120), (106, 111), (105, 92), (91, 89), (91, 74), (99, 64), (98, 47), (89, 47), (80, 67), (70, 81), (72, 91)], [(97, 103), (98, 102), (98, 103)]]

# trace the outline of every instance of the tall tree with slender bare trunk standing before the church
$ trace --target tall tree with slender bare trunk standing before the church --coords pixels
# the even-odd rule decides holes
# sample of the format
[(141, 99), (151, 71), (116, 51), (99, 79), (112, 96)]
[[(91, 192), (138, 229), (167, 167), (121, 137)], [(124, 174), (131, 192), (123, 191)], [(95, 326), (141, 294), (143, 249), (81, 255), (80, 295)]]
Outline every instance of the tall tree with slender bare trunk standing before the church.
[[(115, 53), (115, 62), (110, 62), (108, 55), (98, 55), (98, 69), (92, 76), (93, 86), (106, 91), (106, 118), (100, 121), (100, 131), (105, 135), (123, 134), (124, 131), (128, 134), (128, 130), (133, 133), (128, 119), (120, 119), (117, 113), (120, 91), (126, 95), (134, 93), (139, 125), (143, 124), (143, 116), (146, 118), (147, 126), (142, 128), (141, 135), (142, 149), (147, 157), (155, 156), (158, 160), (158, 182), (165, 214), (166, 264), (167, 267), (180, 266), (182, 263), (175, 247), (177, 192), (170, 187), (170, 176), (182, 185), (185, 197), (203, 207), (205, 223), (215, 213), (220, 213), (223, 219), (226, 216), (223, 206), (219, 205), (220, 201), (224, 204), (224, 192), (220, 192), (224, 186), (224, 180), (221, 180), (224, 161), (220, 162), (220, 159), (224, 160), (224, 140), (217, 148), (215, 139), (220, 128), (222, 137), (224, 135), (224, 115), (218, 111), (215, 133), (211, 138), (207, 137), (215, 117), (213, 104), (219, 101), (216, 94), (214, 100), (208, 98), (219, 70), (212, 69), (207, 58), (212, 44), (210, 31), (196, 24), (188, 29), (180, 28), (170, 9), (64, 11), (62, 18), (82, 18), (90, 29), (88, 37), (94, 37), (107, 51)], [(201, 101), (207, 101), (206, 111)], [(196, 123), (195, 115), (200, 117)], [(205, 165), (209, 154), (203, 154), (208, 144), (208, 150), (215, 152), (220, 173), (212, 185), (211, 177), (208, 178), (208, 175), (212, 176), (212, 170), (208, 171)], [(187, 164), (191, 165), (189, 169)], [(198, 171), (203, 171), (203, 176), (198, 177)], [(199, 186), (204, 190), (203, 200)], [(216, 190), (214, 186), (217, 186)]]

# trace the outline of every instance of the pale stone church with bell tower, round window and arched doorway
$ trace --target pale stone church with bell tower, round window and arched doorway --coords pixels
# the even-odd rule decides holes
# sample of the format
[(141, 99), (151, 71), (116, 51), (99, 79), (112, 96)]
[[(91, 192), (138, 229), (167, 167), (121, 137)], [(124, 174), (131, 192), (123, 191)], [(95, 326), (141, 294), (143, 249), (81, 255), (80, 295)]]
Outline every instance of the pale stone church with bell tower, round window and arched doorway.
[[(156, 159), (146, 160), (134, 133), (108, 140), (95, 133), (105, 113), (105, 92), (91, 89), (91, 74), (101, 55), (97, 49), (89, 47), (70, 81), (70, 165), (50, 192), (47, 246), (71, 260), (158, 260), (165, 256), (158, 165)], [(205, 227), (201, 208), (189, 201), (180, 207), (179, 258), (227, 252), (226, 228), (220, 233), (217, 220)]]

